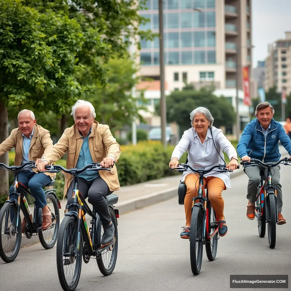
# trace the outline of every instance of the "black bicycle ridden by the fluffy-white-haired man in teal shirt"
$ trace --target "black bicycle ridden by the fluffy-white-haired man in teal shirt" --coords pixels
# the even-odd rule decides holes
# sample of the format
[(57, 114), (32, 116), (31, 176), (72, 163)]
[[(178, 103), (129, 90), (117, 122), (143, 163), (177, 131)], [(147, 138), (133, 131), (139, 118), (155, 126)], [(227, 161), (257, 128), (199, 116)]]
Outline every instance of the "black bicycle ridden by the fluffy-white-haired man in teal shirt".
[[(79, 283), (82, 265), (81, 256), (83, 256), (85, 263), (88, 263), (92, 256), (96, 257), (98, 268), (104, 276), (110, 275), (115, 268), (118, 249), (117, 218), (119, 217), (119, 212), (117, 209), (113, 208), (113, 205), (118, 202), (118, 196), (116, 194), (109, 194), (104, 197), (107, 201), (111, 221), (115, 230), (114, 242), (107, 246), (103, 246), (101, 245), (102, 224), (100, 217), (95, 212), (94, 208), (93, 211), (91, 211), (86, 204), (84, 197), (78, 189), (79, 183), (77, 176), (87, 170), (111, 171), (111, 169), (102, 168), (100, 163), (91, 163), (82, 169), (65, 169), (59, 165), (47, 165), (45, 166), (45, 169), (49, 170), (51, 173), (63, 171), (65, 173), (70, 173), (73, 177), (75, 177), (72, 203), (70, 205), (66, 205), (65, 217), (61, 222), (56, 246), (56, 263), (59, 281), (63, 290), (72, 291), (75, 290)], [(70, 210), (72, 207), (77, 208), (77, 211)], [(89, 230), (86, 223), (84, 210), (92, 217), (92, 220), (90, 221), (92, 228), (89, 228)], [(84, 244), (82, 243), (83, 241)], [(102, 254), (104, 251), (111, 252), (109, 259), (106, 261), (106, 265), (102, 259)], [(67, 272), (64, 271), (64, 266), (72, 265), (74, 263), (76, 266), (72, 272), (68, 272), (69, 275), (72, 274), (69, 278), (70, 281), (68, 281), (65, 277)]]

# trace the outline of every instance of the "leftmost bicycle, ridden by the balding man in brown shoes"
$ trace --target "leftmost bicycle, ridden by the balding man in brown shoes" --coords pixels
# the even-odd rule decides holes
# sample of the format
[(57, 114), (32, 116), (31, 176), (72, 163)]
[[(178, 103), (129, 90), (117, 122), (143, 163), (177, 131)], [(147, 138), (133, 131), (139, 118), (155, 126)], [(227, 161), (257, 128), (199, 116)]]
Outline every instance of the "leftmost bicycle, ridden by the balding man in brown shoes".
[[(42, 230), (42, 210), (36, 206), (34, 201), (34, 211), (33, 217), (31, 214), (30, 207), (27, 203), (25, 194), (29, 194), (33, 197), (33, 194), (21, 183), (18, 181), (18, 175), (24, 168), (36, 168), (35, 162), (30, 161), (21, 166), (6, 166), (6, 164), (0, 163), (0, 169), (6, 168), (13, 171), (13, 186), (12, 193), (7, 195), (6, 203), (2, 206), (0, 210), (0, 225), (1, 225), (1, 239), (0, 239), (0, 257), (6, 262), (13, 262), (17, 257), (22, 240), (22, 224), (20, 217), (20, 209), (22, 210), (24, 217), (26, 219), (25, 225), (25, 235), (28, 239), (32, 235), (38, 235), (40, 243), (45, 249), (51, 249), (55, 243), (58, 236), (58, 228), (60, 224), (60, 215), (59, 209), (61, 209), (60, 201), (56, 196), (56, 189), (47, 189), (45, 190), (45, 196), (47, 201), (50, 200), (52, 203), (48, 206), (52, 213), (52, 225), (46, 230)], [(50, 187), (54, 185), (54, 180), (44, 187)], [(11, 196), (17, 196), (18, 198), (11, 198)], [(51, 207), (50, 207), (51, 206)], [(52, 209), (54, 210), (52, 212)], [(17, 219), (15, 219), (17, 218)], [(9, 221), (10, 220), (10, 221)], [(3, 223), (4, 222), (4, 223)], [(4, 230), (2, 226), (4, 225)], [(46, 234), (49, 234), (48, 238)], [(8, 239), (15, 239), (15, 246), (13, 247), (12, 243), (8, 244), (5, 237)], [(48, 241), (47, 241), (48, 239)], [(4, 242), (4, 244), (3, 244)]]

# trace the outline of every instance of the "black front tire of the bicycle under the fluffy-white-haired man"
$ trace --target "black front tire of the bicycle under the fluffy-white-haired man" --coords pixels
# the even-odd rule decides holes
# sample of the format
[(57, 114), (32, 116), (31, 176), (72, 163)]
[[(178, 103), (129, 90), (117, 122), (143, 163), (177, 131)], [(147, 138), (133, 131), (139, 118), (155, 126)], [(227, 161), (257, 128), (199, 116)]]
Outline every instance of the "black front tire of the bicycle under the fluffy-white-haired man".
[[(75, 257), (75, 262), (76, 262), (76, 269), (75, 273), (73, 276), (73, 282), (69, 285), (67, 283), (67, 280), (65, 278), (65, 271), (64, 271), (64, 266), (63, 266), (63, 243), (64, 239), (67, 238), (65, 237), (66, 235), (66, 228), (69, 224), (72, 224), (73, 228), (77, 230), (77, 219), (73, 216), (68, 216), (65, 215), (64, 219), (62, 220), (60, 230), (58, 233), (58, 239), (57, 239), (57, 244), (56, 244), (56, 266), (58, 270), (58, 278), (61, 284), (61, 287), (65, 291), (73, 291), (77, 288), (77, 285), (79, 283), (80, 275), (81, 275), (81, 267), (82, 267), (82, 254), (83, 254), (83, 243), (82, 243), (82, 235), (80, 236), (80, 244), (79, 244), (79, 252), (77, 253)], [(75, 232), (75, 239), (72, 241), (76, 242), (77, 240), (77, 232)], [(69, 251), (71, 248), (69, 249)], [(72, 260), (72, 258), (71, 258)], [(77, 273), (76, 273), (77, 270)]]

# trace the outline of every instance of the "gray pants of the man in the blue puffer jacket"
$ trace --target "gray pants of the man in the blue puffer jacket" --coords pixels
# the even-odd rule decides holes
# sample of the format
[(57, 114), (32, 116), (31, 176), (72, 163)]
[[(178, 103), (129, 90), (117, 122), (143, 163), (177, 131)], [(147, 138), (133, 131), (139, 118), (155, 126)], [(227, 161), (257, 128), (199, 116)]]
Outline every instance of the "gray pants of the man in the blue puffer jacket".
[[(272, 168), (272, 180), (273, 186), (277, 187), (277, 205), (278, 205), (278, 212), (282, 211), (282, 186), (280, 184), (280, 165)], [(249, 166), (244, 168), (244, 172), (249, 177), (249, 184), (248, 184), (248, 195), (246, 198), (249, 199), (251, 203), (255, 203), (257, 200), (258, 188), (260, 186), (261, 178), (260, 178), (260, 170), (264, 169), (263, 179), (267, 179), (267, 168), (263, 166)]]

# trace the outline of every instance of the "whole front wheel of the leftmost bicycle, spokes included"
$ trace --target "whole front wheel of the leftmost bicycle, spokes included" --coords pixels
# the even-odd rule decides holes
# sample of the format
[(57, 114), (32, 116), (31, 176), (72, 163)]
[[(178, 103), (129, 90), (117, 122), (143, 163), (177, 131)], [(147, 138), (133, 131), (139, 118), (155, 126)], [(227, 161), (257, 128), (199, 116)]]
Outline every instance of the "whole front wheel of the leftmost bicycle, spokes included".
[[(17, 226), (18, 221), (18, 226)], [(0, 210), (0, 257), (10, 263), (17, 257), (21, 246), (21, 218), (13, 203), (6, 202)]]

